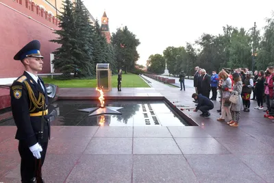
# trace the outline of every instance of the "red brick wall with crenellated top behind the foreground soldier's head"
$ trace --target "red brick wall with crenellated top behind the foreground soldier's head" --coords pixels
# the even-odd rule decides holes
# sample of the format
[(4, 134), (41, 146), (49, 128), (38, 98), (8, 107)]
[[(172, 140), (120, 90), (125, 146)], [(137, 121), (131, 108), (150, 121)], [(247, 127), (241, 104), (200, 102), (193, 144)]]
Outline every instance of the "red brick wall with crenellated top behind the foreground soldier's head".
[(24, 45), (34, 39), (40, 41), (40, 52), (45, 57), (43, 71), (40, 73), (51, 71), (50, 53), (59, 45), (49, 40), (58, 36), (53, 34), (54, 29), (59, 29), (58, 19), (36, 6), (34, 2), (35, 0), (0, 1), (0, 78), (18, 77), (23, 73), (23, 64), (13, 60), (13, 57)]

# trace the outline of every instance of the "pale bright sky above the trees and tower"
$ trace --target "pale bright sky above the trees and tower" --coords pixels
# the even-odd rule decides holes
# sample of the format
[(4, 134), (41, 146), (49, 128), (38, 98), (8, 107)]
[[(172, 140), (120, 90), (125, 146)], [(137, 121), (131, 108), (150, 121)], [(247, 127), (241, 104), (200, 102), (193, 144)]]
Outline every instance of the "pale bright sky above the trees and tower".
[(186, 47), (203, 33), (218, 35), (223, 26), (249, 29), (256, 22), (257, 29), (271, 18), (274, 0), (83, 0), (84, 5), (101, 24), (105, 11), (110, 33), (121, 26), (140, 40), (137, 64), (145, 66), (151, 54), (166, 47)]

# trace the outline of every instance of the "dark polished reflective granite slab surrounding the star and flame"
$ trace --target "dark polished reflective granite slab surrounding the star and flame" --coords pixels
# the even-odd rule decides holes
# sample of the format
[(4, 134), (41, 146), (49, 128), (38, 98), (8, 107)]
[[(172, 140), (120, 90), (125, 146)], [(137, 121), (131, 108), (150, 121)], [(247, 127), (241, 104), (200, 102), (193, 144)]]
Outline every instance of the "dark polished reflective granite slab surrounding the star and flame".
[[(100, 108), (99, 100), (60, 100), (51, 103), (58, 114), (51, 125), (77, 126), (185, 126), (188, 124), (164, 101), (105, 101)], [(49, 114), (53, 111), (49, 110)], [(9, 119), (0, 125), (15, 125)]]

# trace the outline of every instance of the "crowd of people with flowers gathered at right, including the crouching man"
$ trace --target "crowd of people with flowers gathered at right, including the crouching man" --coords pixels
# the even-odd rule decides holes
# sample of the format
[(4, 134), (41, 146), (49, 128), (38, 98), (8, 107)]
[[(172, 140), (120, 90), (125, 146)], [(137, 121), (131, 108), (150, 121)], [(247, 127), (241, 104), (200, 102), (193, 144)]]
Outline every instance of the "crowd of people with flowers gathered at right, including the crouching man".
[[(194, 75), (196, 93), (192, 94), (192, 98), (195, 99), (197, 107), (194, 111), (200, 110), (202, 117), (209, 117), (209, 111), (214, 108), (212, 101), (216, 101), (217, 93), (220, 93), (221, 108), (217, 112), (220, 112), (221, 116), (217, 121), (238, 127), (240, 112), (250, 111), (250, 100), (257, 101), (257, 106), (254, 107), (257, 110), (264, 110), (266, 103), (264, 117), (274, 119), (274, 105), (271, 105), (274, 95), (273, 71), (273, 66), (269, 66), (266, 71), (254, 71), (254, 73), (247, 68), (234, 70), (223, 68), (218, 74), (212, 71), (210, 76), (205, 69), (196, 66)], [(253, 94), (252, 98), (251, 94)]]

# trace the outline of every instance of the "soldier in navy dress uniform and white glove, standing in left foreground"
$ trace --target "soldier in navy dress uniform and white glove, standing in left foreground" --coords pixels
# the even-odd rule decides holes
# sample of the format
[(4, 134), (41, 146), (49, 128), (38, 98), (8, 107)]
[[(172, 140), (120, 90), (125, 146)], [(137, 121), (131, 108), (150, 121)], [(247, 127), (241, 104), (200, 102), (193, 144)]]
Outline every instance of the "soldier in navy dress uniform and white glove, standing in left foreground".
[(42, 58), (38, 40), (29, 42), (14, 56), (14, 60), (21, 60), (25, 66), (23, 75), (10, 86), (22, 182), (38, 182), (38, 163), (41, 168), (50, 138), (47, 88), (37, 75), (42, 71)]

